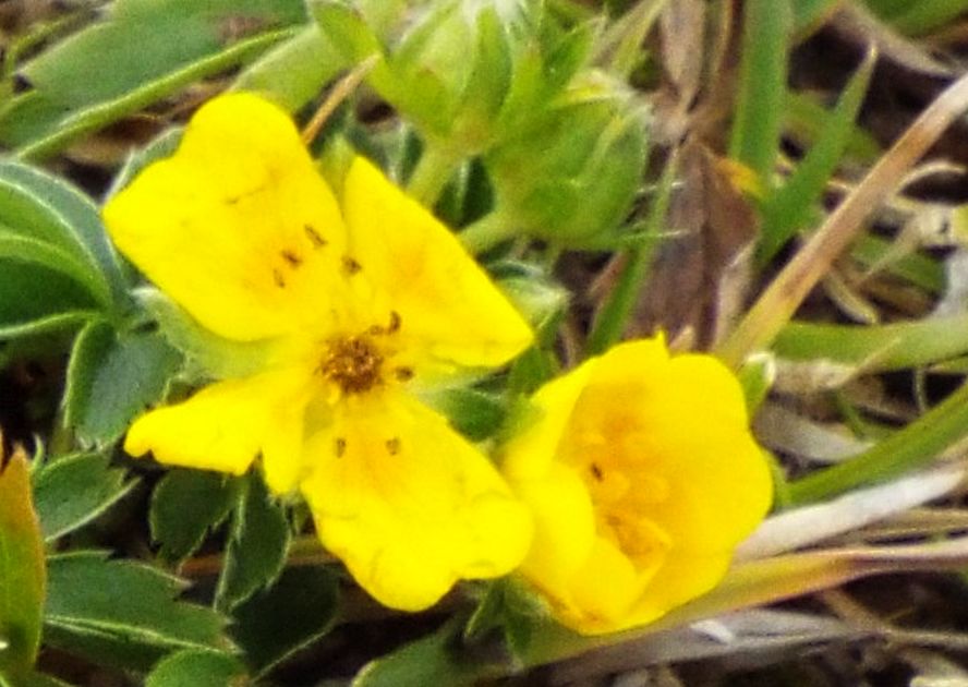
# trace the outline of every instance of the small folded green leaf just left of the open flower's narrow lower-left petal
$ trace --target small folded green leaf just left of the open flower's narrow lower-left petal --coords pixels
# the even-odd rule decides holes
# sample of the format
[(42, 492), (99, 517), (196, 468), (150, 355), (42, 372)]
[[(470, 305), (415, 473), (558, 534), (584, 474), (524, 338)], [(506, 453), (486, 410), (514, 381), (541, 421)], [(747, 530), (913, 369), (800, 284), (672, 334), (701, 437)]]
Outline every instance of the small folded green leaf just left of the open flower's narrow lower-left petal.
[(119, 333), (105, 321), (77, 336), (68, 367), (64, 420), (82, 442), (105, 445), (158, 401), (179, 353), (154, 332)]

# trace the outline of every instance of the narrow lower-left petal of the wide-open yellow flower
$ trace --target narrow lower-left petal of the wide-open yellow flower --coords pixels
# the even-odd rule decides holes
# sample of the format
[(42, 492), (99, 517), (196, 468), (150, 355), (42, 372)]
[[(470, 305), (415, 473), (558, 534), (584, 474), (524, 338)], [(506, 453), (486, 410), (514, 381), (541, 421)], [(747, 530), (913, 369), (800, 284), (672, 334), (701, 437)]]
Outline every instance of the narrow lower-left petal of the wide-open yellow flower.
[[(266, 459), (274, 466), (271, 472), (279, 474), (291, 469), (279, 466), (299, 459), (299, 454), (283, 454), (288, 447), (279, 447), (289, 443), (289, 433), (298, 425), (295, 436), (302, 436), (298, 390), (302, 379), (285, 371), (218, 382), (185, 401), (138, 418), (128, 432), (124, 450), (132, 456), (152, 451), (166, 465), (242, 474), (268, 448)], [(285, 491), (280, 479), (270, 480), (270, 486)]]

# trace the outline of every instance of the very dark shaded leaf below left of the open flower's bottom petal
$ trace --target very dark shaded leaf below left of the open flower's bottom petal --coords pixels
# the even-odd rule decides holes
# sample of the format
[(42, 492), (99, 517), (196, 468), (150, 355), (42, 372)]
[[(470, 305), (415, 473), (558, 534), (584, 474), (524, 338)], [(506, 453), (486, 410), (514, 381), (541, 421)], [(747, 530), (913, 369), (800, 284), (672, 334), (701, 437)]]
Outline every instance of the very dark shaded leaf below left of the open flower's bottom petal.
[(275, 584), (235, 608), (230, 632), (264, 674), (326, 635), (336, 623), (339, 578), (324, 567), (287, 568)]

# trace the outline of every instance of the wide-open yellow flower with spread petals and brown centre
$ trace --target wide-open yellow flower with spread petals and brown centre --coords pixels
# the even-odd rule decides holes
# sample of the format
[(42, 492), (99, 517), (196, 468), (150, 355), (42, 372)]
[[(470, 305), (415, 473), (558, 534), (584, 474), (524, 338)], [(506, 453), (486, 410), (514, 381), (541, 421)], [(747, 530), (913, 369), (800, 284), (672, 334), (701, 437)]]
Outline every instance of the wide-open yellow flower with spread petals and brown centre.
[(104, 209), (119, 249), (202, 326), (264, 350), (132, 425), (125, 449), (302, 491), (319, 538), (388, 606), (516, 567), (528, 511), (420, 400), (500, 365), (529, 326), (426, 209), (362, 157), (340, 198), (289, 117), (251, 94), (198, 110), (178, 153)]

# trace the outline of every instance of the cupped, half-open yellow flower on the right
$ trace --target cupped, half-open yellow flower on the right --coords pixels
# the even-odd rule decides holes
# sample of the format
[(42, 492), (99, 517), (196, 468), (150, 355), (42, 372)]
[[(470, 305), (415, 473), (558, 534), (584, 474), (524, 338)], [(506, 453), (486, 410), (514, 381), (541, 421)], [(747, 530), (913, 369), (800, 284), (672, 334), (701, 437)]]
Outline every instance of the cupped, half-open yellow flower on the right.
[(770, 507), (739, 384), (710, 355), (622, 343), (533, 403), (504, 462), (535, 517), (521, 572), (580, 632), (643, 625), (710, 590)]

